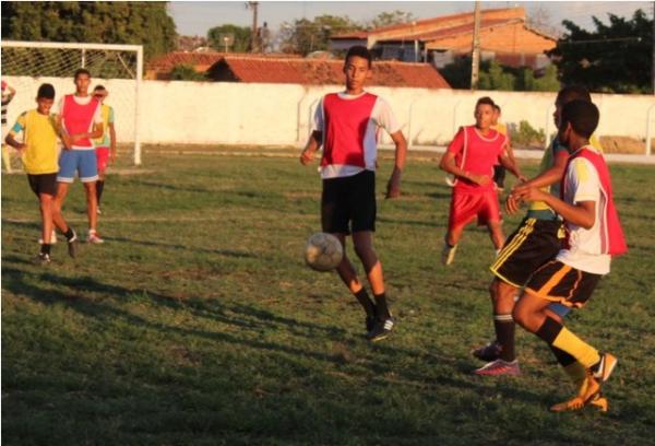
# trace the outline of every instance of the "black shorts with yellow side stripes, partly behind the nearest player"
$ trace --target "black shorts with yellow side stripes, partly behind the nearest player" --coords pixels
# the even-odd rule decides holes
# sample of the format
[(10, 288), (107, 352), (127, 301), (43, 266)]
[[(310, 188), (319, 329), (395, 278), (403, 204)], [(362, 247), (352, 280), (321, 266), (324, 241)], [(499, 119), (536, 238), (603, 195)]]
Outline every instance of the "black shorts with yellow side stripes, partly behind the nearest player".
[(559, 220), (524, 219), (489, 269), (503, 282), (521, 287), (533, 272), (557, 256), (563, 236)]

